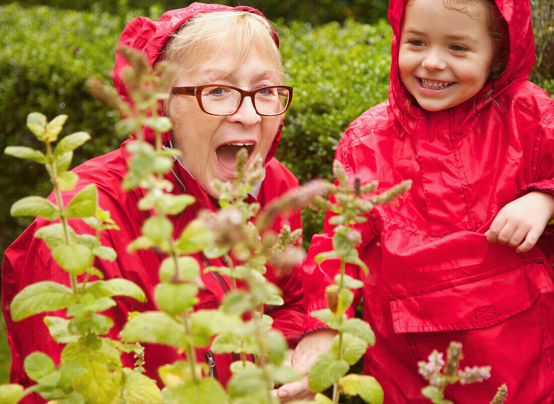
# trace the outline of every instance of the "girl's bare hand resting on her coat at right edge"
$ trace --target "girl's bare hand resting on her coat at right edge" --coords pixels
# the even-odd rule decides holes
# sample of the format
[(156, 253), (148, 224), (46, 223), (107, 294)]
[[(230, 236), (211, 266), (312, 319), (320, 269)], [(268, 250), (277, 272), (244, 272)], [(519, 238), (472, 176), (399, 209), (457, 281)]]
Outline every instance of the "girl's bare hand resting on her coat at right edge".
[(553, 216), (554, 194), (532, 191), (500, 209), (485, 236), (489, 243), (507, 244), (516, 252), (527, 252)]

